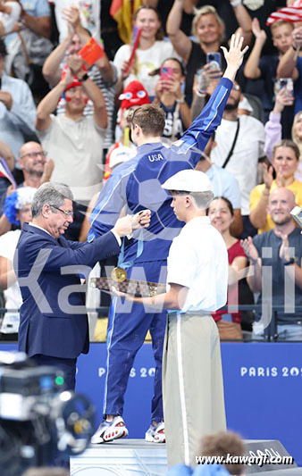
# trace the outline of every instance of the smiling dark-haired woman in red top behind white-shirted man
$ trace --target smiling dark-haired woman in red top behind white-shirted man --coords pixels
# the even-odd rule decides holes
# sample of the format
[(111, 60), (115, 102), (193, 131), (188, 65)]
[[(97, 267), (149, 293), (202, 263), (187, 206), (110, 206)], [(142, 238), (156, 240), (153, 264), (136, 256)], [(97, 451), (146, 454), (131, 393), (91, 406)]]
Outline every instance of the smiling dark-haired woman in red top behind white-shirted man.
[[(244, 270), (247, 268), (247, 256), (240, 245), (239, 239), (231, 234), (231, 224), (234, 221), (234, 210), (230, 200), (224, 196), (214, 198), (208, 209), (208, 215), (215, 229), (220, 231), (229, 257), (229, 288), (227, 305), (239, 304), (239, 280), (244, 278)], [(212, 313), (217, 324), (220, 338), (242, 338), (240, 327), (241, 313), (228, 310), (218, 310)]]

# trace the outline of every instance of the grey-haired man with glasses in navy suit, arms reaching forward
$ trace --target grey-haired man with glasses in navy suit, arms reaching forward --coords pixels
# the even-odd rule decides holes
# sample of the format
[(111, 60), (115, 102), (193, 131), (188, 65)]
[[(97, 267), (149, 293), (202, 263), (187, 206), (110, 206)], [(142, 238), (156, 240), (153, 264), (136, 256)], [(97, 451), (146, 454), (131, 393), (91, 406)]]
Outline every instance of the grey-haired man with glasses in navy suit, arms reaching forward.
[(63, 369), (69, 389), (75, 386), (77, 357), (89, 348), (79, 274), (88, 274), (97, 261), (118, 255), (121, 237), (147, 226), (150, 212), (123, 217), (93, 243), (63, 238), (72, 217), (70, 188), (50, 182), (42, 185), (33, 198), (32, 221), (24, 223), (14, 256), (23, 300), (19, 349), (38, 364)]

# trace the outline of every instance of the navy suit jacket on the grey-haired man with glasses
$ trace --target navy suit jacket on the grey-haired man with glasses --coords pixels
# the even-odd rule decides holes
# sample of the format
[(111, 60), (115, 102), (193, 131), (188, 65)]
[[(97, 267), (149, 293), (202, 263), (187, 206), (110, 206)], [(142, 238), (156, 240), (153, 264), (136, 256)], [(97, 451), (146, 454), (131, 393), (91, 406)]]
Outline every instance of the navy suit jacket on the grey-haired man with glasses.
[(75, 358), (87, 354), (88, 317), (80, 266), (92, 268), (97, 261), (119, 253), (112, 232), (93, 243), (80, 243), (63, 236), (56, 240), (24, 223), (13, 263), (23, 300), (19, 349), (29, 356)]

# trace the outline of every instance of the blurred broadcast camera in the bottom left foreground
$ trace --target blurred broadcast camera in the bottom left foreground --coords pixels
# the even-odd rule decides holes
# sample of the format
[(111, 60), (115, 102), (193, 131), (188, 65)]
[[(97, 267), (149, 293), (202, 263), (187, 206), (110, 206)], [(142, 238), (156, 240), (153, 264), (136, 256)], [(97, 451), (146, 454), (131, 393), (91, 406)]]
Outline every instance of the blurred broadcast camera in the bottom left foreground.
[(35, 366), (23, 353), (0, 352), (0, 473), (67, 465), (82, 453), (94, 428), (86, 397), (64, 390), (63, 372)]

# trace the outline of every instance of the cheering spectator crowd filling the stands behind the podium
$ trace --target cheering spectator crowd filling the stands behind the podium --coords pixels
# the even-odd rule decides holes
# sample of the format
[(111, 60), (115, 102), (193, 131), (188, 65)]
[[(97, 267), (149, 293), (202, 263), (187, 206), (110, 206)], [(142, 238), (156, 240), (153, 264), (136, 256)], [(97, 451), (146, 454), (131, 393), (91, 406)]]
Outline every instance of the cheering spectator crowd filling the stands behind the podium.
[[(128, 115), (156, 104), (164, 110), (165, 145), (180, 139), (212, 96), (226, 68), (222, 48), (239, 30), (249, 49), (196, 166), (212, 182), (208, 215), (229, 256), (233, 307), (213, 317), (221, 338), (242, 339), (255, 321), (254, 338), (302, 340), (302, 238), (289, 213), (302, 207), (302, 21), (266, 25), (276, 9), (298, 2), (130, 4), (128, 24), (121, 24), (111, 0), (0, 3), (2, 306), (20, 305), (13, 252), (35, 189), (46, 181), (71, 188), (74, 220), (66, 235), (86, 241), (103, 185), (136, 154)], [(83, 48), (92, 40), (97, 57), (88, 62)], [(270, 283), (264, 266), (272, 269)], [(262, 305), (268, 294), (270, 315), (236, 309)], [(17, 332), (18, 313), (8, 313), (0, 338)]]

